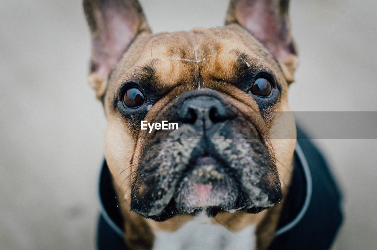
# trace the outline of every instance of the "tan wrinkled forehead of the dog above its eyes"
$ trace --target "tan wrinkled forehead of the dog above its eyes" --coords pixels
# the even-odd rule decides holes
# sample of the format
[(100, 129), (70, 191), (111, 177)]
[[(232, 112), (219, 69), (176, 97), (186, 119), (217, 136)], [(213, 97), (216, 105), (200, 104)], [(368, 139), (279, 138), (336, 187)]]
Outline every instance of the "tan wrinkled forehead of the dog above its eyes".
[(116, 70), (115, 85), (148, 79), (173, 88), (182, 83), (232, 82), (245, 71), (268, 71), (280, 78), (276, 61), (249, 32), (239, 27), (194, 29), (136, 39)]

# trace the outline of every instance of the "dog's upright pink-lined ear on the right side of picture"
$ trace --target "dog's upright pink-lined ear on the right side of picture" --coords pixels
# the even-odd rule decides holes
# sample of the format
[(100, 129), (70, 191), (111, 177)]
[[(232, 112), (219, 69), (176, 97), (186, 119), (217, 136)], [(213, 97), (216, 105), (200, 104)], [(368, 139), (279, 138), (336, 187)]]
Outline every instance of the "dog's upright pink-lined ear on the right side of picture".
[(238, 23), (271, 52), (288, 83), (298, 64), (288, 17), (289, 0), (231, 0), (225, 25)]

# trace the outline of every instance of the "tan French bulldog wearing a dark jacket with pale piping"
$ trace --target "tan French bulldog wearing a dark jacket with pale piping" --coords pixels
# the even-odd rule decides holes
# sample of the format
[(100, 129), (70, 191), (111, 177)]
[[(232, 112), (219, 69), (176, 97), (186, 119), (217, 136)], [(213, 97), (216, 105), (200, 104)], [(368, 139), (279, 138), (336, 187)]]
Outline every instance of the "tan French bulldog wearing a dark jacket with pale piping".
[(340, 194), (288, 107), (288, 0), (231, 0), (224, 27), (160, 34), (136, 0), (84, 11), (108, 119), (99, 249), (331, 247)]

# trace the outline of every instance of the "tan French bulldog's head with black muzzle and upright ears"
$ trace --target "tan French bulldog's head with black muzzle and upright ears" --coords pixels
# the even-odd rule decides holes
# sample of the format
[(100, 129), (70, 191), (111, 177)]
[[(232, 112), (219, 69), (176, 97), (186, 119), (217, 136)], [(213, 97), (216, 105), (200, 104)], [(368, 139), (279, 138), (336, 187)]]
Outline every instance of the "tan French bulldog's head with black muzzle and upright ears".
[[(103, 102), (105, 155), (124, 207), (257, 213), (282, 200), (294, 151), (287, 90), (296, 68), (288, 1), (232, 0), (226, 25), (151, 34), (132, 0), (84, 0), (90, 83)], [(141, 129), (141, 121), (177, 129)], [(168, 126), (167, 126), (168, 127)]]

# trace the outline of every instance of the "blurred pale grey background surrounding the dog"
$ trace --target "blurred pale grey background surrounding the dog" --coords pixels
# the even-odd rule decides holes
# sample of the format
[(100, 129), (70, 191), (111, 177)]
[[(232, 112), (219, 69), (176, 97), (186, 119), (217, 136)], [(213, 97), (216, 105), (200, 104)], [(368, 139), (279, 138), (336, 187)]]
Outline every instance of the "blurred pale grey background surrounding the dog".
[[(140, 2), (154, 32), (221, 26), (228, 5)], [(94, 249), (106, 119), (87, 83), (82, 3), (0, 0), (0, 6), (0, 249)], [(377, 111), (376, 13), (374, 0), (291, 1), (300, 53), (291, 110)], [(314, 142), (343, 187), (338, 249), (374, 250), (377, 140)]]

